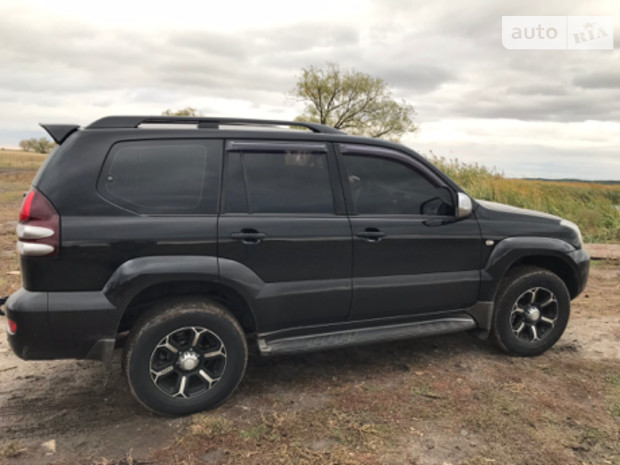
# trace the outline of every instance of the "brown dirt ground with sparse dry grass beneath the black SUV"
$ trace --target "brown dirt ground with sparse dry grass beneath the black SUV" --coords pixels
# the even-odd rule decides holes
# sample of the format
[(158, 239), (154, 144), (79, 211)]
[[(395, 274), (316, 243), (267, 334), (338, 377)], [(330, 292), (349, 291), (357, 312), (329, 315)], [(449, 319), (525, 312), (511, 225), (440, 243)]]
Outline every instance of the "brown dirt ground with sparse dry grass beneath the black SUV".
[[(4, 325), (2, 325), (4, 326)], [(132, 399), (117, 357), (24, 362), (0, 334), (0, 463), (620, 463), (620, 261), (531, 359), (467, 334), (250, 359), (213, 412)]]

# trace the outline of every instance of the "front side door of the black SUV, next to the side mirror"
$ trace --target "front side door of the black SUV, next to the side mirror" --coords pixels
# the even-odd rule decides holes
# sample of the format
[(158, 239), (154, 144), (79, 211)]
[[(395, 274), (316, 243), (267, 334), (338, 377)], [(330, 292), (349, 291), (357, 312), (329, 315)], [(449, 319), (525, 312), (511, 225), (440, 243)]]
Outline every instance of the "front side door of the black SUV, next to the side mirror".
[(473, 305), (481, 237), (455, 217), (454, 193), (395, 150), (340, 145), (353, 230), (351, 319), (422, 315)]

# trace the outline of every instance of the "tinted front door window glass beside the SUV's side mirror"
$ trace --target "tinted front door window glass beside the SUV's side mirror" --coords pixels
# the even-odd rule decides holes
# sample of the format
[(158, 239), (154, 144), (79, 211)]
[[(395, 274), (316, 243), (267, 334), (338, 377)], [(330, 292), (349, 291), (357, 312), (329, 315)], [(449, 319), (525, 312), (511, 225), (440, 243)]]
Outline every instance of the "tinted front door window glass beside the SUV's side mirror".
[(452, 215), (447, 189), (437, 187), (396, 160), (362, 155), (343, 157), (355, 210), (359, 214)]

